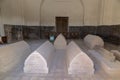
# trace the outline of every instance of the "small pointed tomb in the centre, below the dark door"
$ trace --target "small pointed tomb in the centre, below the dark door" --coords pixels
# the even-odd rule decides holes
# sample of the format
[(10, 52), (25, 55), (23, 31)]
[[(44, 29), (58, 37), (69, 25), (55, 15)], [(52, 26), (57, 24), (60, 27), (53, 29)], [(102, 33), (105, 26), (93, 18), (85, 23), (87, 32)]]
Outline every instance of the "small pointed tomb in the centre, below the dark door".
[(62, 34), (57, 36), (57, 38), (55, 39), (55, 42), (54, 42), (54, 46), (56, 49), (65, 49), (66, 48), (67, 41)]

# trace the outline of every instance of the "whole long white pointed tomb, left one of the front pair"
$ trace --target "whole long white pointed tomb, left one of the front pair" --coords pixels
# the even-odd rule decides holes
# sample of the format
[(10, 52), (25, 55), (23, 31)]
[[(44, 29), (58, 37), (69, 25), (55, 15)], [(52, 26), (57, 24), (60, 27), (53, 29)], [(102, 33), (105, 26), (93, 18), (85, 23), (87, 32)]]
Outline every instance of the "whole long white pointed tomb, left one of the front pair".
[(51, 64), (54, 46), (46, 41), (25, 60), (25, 73), (48, 73)]

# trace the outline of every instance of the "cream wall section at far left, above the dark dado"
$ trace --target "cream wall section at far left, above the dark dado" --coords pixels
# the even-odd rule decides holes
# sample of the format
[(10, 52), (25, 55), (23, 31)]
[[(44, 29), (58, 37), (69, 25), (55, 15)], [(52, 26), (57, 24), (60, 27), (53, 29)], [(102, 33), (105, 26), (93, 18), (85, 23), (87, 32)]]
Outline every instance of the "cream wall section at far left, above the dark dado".
[(23, 0), (4, 0), (1, 8), (3, 24), (24, 24)]

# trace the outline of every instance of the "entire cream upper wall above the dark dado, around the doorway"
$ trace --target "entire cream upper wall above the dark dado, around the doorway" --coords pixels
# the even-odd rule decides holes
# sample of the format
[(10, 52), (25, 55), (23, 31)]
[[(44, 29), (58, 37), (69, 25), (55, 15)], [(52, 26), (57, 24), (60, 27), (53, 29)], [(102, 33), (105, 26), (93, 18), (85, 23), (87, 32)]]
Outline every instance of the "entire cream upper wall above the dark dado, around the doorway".
[(1, 0), (3, 24), (55, 26), (55, 16), (68, 16), (69, 26), (120, 24), (119, 0)]

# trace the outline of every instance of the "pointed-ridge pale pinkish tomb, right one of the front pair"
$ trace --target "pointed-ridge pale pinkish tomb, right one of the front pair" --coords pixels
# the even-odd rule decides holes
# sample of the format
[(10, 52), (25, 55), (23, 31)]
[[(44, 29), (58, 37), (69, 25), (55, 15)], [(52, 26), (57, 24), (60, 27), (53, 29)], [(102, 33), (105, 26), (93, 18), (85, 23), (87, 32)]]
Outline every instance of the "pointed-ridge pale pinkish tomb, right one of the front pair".
[(93, 61), (73, 41), (67, 46), (69, 74), (94, 74)]

